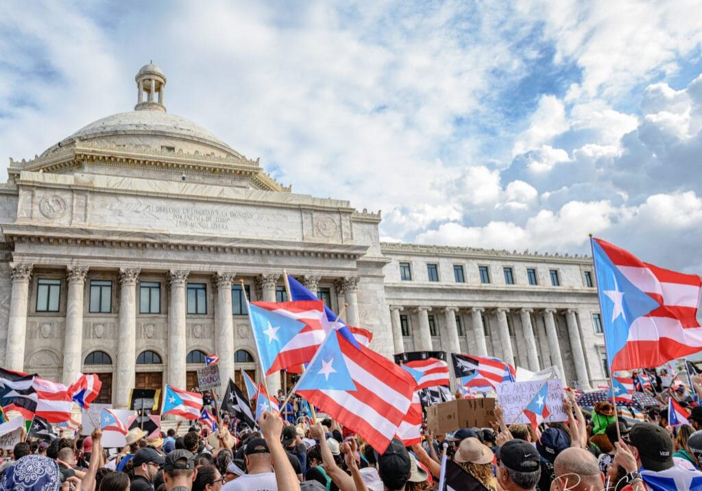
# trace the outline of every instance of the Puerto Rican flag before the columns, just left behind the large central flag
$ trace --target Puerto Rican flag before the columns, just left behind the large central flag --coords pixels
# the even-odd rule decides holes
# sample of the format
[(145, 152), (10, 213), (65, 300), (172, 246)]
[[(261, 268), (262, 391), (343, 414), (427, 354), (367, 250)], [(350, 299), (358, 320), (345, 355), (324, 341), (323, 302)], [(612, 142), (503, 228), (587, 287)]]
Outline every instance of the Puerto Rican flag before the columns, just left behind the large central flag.
[(251, 329), (265, 375), (312, 360), (324, 341), (324, 301), (253, 302)]

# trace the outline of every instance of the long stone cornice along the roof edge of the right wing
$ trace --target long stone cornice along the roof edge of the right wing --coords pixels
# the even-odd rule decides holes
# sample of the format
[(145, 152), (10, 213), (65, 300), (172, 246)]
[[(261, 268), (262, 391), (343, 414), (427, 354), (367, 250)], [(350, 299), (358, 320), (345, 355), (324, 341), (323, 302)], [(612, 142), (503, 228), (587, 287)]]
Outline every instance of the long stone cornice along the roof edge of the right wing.
[(383, 254), (413, 254), (419, 256), (460, 256), (467, 258), (515, 258), (525, 261), (592, 264), (592, 257), (580, 254), (539, 254), (538, 252), (517, 252), (498, 249), (479, 249), (477, 247), (452, 247), (422, 244), (403, 244), (400, 242), (380, 242)]

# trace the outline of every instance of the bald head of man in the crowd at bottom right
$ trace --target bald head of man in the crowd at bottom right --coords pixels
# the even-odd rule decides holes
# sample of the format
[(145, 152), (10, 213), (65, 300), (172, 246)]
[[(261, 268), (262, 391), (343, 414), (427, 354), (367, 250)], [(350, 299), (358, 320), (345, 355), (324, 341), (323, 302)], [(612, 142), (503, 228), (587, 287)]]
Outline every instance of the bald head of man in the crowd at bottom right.
[(597, 459), (583, 448), (567, 448), (553, 462), (555, 479), (551, 490), (591, 491), (602, 489), (604, 474)]

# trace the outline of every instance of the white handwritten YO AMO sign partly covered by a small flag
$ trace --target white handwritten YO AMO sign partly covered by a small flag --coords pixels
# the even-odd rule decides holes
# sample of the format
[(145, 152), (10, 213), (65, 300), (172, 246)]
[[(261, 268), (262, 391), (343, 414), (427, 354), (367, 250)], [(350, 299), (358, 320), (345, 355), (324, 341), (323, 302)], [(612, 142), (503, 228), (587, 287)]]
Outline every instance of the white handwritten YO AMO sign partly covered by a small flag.
[[(548, 395), (546, 396), (546, 407), (550, 412), (545, 419), (547, 423), (555, 421), (565, 421), (566, 413), (563, 410), (563, 382), (558, 379), (545, 381), (548, 384)], [(529, 382), (503, 382), (497, 388), (497, 398), (504, 411), (505, 424), (524, 423), (529, 424), (529, 420), (522, 412), (524, 407), (531, 401), (531, 398), (543, 386), (543, 380)], [(517, 415), (519, 417), (517, 418)], [(516, 418), (516, 421), (515, 421)]]

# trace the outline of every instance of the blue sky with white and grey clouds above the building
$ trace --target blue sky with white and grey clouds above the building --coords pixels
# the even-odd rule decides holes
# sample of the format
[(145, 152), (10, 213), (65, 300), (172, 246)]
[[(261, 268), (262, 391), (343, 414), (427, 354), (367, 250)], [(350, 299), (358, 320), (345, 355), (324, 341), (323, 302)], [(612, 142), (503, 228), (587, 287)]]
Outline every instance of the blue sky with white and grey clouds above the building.
[(294, 192), (381, 209), (385, 240), (594, 233), (701, 273), (696, 3), (2, 2), (0, 155), (131, 110), (154, 60), (170, 112)]

